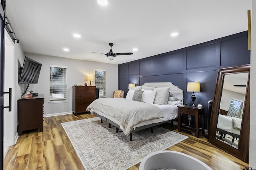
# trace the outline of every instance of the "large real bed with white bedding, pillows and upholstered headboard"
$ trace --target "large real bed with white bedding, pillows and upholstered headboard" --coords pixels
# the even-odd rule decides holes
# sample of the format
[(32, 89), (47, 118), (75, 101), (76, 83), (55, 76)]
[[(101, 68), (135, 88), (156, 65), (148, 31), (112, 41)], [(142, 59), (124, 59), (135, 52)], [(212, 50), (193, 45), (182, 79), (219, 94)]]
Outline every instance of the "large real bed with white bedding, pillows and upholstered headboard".
[(126, 98), (96, 99), (87, 111), (114, 125), (116, 132), (130, 135), (132, 141), (133, 132), (150, 127), (153, 132), (156, 125), (173, 123), (178, 117), (177, 106), (182, 104), (183, 90), (171, 82), (145, 83), (130, 89)]

